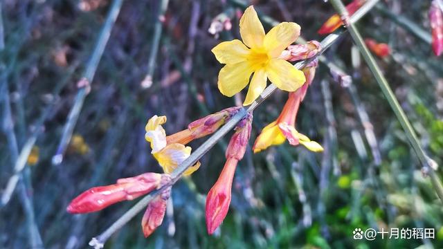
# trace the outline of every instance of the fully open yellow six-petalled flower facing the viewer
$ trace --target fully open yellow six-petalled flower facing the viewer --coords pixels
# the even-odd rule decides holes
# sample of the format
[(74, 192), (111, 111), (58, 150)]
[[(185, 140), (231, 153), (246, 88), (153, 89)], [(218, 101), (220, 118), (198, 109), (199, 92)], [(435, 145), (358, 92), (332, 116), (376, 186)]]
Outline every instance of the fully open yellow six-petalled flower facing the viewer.
[(302, 71), (278, 59), (300, 35), (298, 24), (283, 22), (265, 35), (257, 12), (249, 6), (240, 19), (240, 35), (243, 42), (238, 39), (221, 42), (212, 50), (217, 60), (226, 64), (221, 68), (217, 83), (223, 95), (231, 97), (242, 91), (252, 73), (244, 105), (251, 104), (263, 92), (267, 78), (283, 91), (296, 91), (302, 86), (305, 82)]

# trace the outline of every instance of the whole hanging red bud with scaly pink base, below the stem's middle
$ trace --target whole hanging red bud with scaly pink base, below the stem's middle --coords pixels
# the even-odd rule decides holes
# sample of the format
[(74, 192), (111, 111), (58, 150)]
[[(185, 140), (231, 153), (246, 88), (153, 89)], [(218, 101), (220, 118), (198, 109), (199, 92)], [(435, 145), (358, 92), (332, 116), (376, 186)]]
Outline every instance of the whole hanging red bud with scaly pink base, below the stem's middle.
[(248, 115), (237, 125), (226, 149), (226, 163), (223, 170), (217, 182), (208, 192), (206, 198), (206, 229), (208, 234), (213, 234), (228, 214), (235, 168), (246, 151), (251, 136), (251, 121), (252, 116)]

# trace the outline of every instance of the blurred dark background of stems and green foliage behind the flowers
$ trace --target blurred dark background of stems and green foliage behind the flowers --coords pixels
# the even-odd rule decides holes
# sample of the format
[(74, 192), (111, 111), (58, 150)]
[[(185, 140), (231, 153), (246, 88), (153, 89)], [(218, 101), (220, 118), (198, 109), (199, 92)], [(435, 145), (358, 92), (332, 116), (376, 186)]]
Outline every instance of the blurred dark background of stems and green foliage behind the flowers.
[[(7, 95), (19, 150), (47, 112), (21, 183), (0, 210), (1, 248), (30, 248), (39, 245), (39, 238), (46, 248), (85, 248), (134, 201), (84, 215), (68, 214), (66, 205), (95, 185), (161, 171), (144, 138), (148, 118), (168, 116), (165, 129), (174, 133), (244, 99), (244, 93), (236, 98), (219, 93), (221, 65), (210, 52), (220, 41), (239, 37), (239, 1), (171, 0), (159, 23), (161, 3), (165, 0), (123, 2), (66, 156), (53, 165), (78, 91), (75, 82), (83, 75), (111, 0), (1, 1), (1, 117), (6, 124)], [(377, 7), (385, 13), (372, 10), (358, 27), (365, 37), (390, 45), (392, 55), (378, 63), (423, 147), (441, 164), (442, 60), (395, 20), (406, 18), (429, 33), (430, 3), (381, 1)], [(316, 30), (334, 13), (323, 1), (244, 4), (278, 21), (296, 21), (308, 40), (322, 38)], [(230, 19), (232, 29), (209, 33), (220, 18)], [(145, 76), (156, 25), (163, 30), (150, 84)], [(248, 151), (237, 167), (228, 216), (215, 236), (208, 236), (204, 200), (224, 165), (227, 136), (201, 158), (195, 174), (173, 188), (174, 204), (151, 237), (143, 237), (139, 214), (106, 248), (442, 248), (442, 203), (370, 71), (352, 50), (345, 35), (325, 54), (352, 75), (352, 86), (334, 81), (320, 64), (298, 115), (297, 129), (320, 142), (324, 153), (287, 143), (260, 154)], [(251, 142), (278, 116), (286, 98), (278, 91), (254, 112)], [(362, 122), (364, 113), (369, 119)], [(375, 140), (368, 143), (372, 131)], [(2, 193), (14, 174), (8, 134), (0, 135)], [(436, 239), (357, 241), (354, 228), (435, 228)]]

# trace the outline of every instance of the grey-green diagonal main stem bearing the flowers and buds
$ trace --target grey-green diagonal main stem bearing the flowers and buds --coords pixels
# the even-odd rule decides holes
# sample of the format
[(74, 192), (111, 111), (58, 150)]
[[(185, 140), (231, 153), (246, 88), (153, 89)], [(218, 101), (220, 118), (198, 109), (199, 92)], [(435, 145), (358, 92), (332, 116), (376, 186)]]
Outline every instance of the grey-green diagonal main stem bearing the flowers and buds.
[[(369, 1), (368, 3), (372, 3), (372, 2), (374, 2), (374, 1)], [(365, 12), (368, 12), (370, 10), (370, 8), (367, 8), (367, 7), (364, 8), (364, 7), (365, 6), (363, 6), (362, 8)], [(363, 17), (363, 13), (359, 12), (358, 16), (356, 16), (355, 18), (352, 18), (352, 21), (358, 21), (359, 18), (361, 18), (361, 17)], [(323, 41), (321, 42), (321, 47), (323, 48), (323, 50), (321, 50), (320, 53), (318, 53), (318, 55), (320, 55), (321, 53), (324, 53), (324, 51), (327, 50), (327, 48), (329, 48), (329, 46), (334, 44), (334, 42), (336, 42), (338, 40), (338, 38), (341, 36), (341, 34), (343, 34), (343, 28), (338, 29), (338, 30), (336, 30), (335, 33), (332, 33), (332, 34), (328, 35), (327, 37), (325, 37), (325, 39), (323, 39)], [(303, 68), (309, 62), (311, 62), (312, 59), (315, 59), (315, 58), (311, 58), (311, 59), (299, 62), (295, 66), (298, 69)], [(210, 138), (208, 138), (208, 140), (206, 140), (199, 148), (197, 148), (194, 151), (194, 153), (192, 153), (186, 160), (184, 160), (183, 163), (181, 163), (181, 165), (179, 165), (179, 167), (177, 167), (177, 169), (175, 169), (174, 172), (172, 172), (172, 174), (171, 174), (172, 181), (170, 183), (161, 187), (156, 192), (152, 192), (151, 194), (148, 194), (143, 199), (141, 199), (141, 201), (138, 201), (138, 203), (136, 203), (136, 205), (134, 205), (134, 207), (129, 209), (127, 212), (125, 212), (125, 214), (123, 214), (123, 216), (121, 216), (116, 222), (114, 222), (109, 228), (107, 228), (107, 230), (105, 230), (105, 232), (102, 232), (102, 234), (98, 235), (98, 237), (94, 237), (93, 239), (91, 239), (91, 241), (89, 242), (89, 245), (93, 246), (95, 248), (102, 248), (104, 246), (105, 242), (107, 241), (107, 239), (109, 239), (109, 237), (111, 237), (111, 235), (114, 234), (114, 232), (116, 232), (117, 230), (122, 228), (123, 225), (125, 225), (134, 216), (136, 216), (136, 214), (138, 214), (138, 212), (141, 212), (141, 210), (143, 210), (143, 208), (145, 208), (146, 205), (148, 203), (150, 203), (165, 188), (170, 187), (170, 186), (174, 185), (174, 183), (179, 181), (179, 178), (181, 178), (181, 175), (183, 174), (183, 172), (186, 171), (186, 169), (188, 169), (188, 167), (194, 165), (197, 162), (197, 160), (199, 160), (199, 158), (201, 158), (201, 156), (204, 156), (204, 154), (206, 154), (206, 152), (209, 151), (209, 149), (212, 148), (217, 143), (218, 140), (220, 140), (224, 135), (226, 135), (226, 133), (228, 133), (228, 131), (233, 129), (235, 127), (235, 125), (237, 124), (237, 122), (242, 120), (247, 115), (247, 113), (252, 112), (255, 108), (257, 108), (260, 104), (262, 104), (262, 102), (264, 102), (264, 100), (266, 100), (266, 98), (268, 98), (275, 90), (276, 90), (276, 87), (274, 84), (271, 84), (268, 87), (266, 87), (266, 89), (263, 91), (263, 93), (260, 95), (260, 97), (257, 98), (257, 100), (255, 100), (251, 104), (251, 106), (248, 107), (247, 110), (245, 110), (244, 108), (240, 109), (239, 112), (237, 114), (235, 114), (235, 116), (233, 116), (233, 118), (231, 118), (228, 122), (226, 122), (226, 124), (224, 124), (223, 127), (221, 127), (221, 129), (219, 129), (217, 132), (215, 132), (213, 134), (213, 136), (210, 136)]]

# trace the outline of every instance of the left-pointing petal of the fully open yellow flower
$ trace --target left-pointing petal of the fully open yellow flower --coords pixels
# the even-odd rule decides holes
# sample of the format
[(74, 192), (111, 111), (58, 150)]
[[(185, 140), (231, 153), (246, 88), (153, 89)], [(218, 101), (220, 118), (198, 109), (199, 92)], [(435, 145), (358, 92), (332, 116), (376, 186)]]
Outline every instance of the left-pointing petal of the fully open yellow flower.
[(238, 62), (244, 62), (246, 56), (249, 54), (249, 48), (244, 46), (244, 44), (235, 39), (230, 42), (221, 42), (211, 50), (217, 61), (223, 64), (235, 64)]

